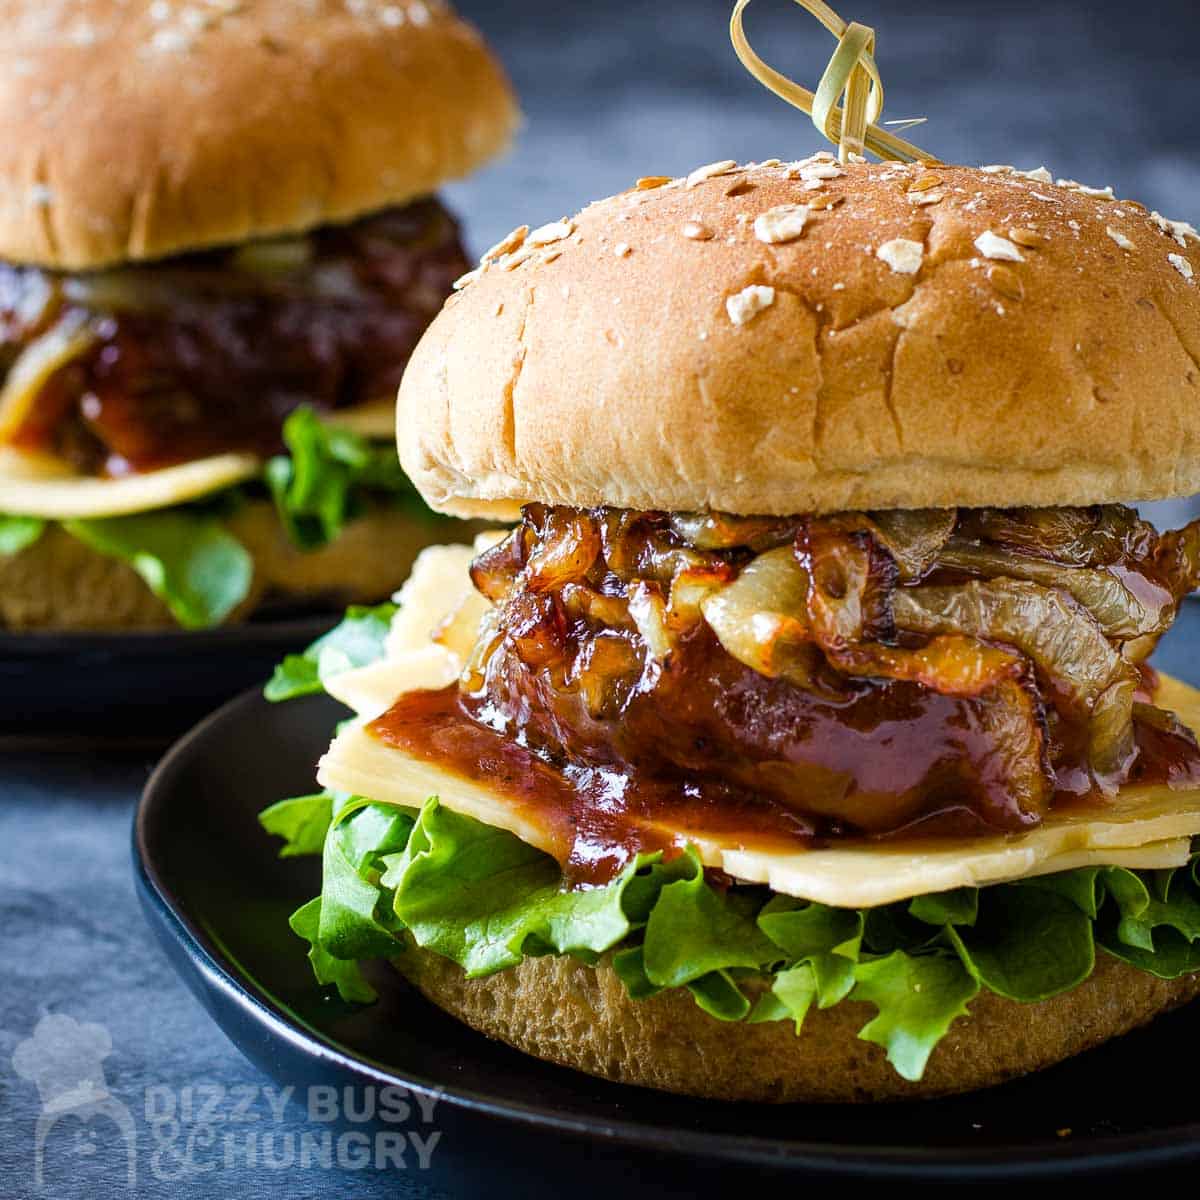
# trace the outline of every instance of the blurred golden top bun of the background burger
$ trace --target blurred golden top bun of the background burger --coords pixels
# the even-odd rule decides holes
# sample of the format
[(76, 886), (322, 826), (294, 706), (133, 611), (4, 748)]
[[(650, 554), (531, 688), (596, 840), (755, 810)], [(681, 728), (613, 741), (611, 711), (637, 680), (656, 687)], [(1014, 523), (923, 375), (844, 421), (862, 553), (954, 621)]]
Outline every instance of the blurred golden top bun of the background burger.
[(509, 142), (440, 0), (0, 0), (0, 258), (65, 270), (350, 221)]

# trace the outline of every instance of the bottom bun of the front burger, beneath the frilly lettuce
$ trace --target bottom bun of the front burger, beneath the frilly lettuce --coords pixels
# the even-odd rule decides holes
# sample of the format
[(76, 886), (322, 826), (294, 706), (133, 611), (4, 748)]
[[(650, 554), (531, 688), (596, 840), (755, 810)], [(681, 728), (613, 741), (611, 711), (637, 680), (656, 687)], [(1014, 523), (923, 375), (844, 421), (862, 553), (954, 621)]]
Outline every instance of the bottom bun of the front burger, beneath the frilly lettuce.
[(439, 1008), (526, 1054), (622, 1084), (709, 1099), (863, 1103), (968, 1092), (1090, 1050), (1200, 992), (1200, 976), (1157, 979), (1098, 954), (1072, 991), (1038, 1004), (982, 992), (950, 1026), (919, 1082), (901, 1079), (858, 1031), (870, 1004), (842, 1002), (791, 1021), (714, 1020), (682, 990), (634, 1001), (606, 961), (526, 959), (468, 979), (448, 959), (409, 947), (397, 970)]

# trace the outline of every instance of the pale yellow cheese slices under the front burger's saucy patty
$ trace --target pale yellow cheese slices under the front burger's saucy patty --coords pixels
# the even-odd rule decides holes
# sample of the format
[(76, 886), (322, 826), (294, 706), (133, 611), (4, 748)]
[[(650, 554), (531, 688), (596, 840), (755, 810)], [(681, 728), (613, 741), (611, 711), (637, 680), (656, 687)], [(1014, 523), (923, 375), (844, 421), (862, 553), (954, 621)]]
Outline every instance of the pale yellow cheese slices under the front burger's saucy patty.
[[(330, 690), (359, 720), (347, 726), (320, 762), (318, 779), (335, 791), (368, 796), (383, 804), (415, 806), (430, 796), (456, 812), (506, 829), (552, 853), (550, 823), (512, 804), (486, 776), (468, 779), (436, 763), (385, 745), (366, 722), (406, 691), (438, 689), (457, 677), (470, 649), (469, 630), (455, 612), (474, 620), (463, 590), (472, 551), (425, 551), (401, 593), (403, 606), (388, 642), (388, 656), (348, 672)], [(478, 598), (476, 598), (478, 600)], [(451, 619), (448, 619), (451, 618)], [(452, 632), (451, 632), (452, 631)], [(433, 642), (433, 637), (443, 637)], [(1200, 727), (1200, 692), (1166, 676), (1158, 702), (1193, 728)], [(751, 845), (724, 830), (677, 829), (643, 821), (650, 842), (694, 845), (707, 866), (748, 883), (840, 907), (872, 907), (956, 887), (979, 887), (1078, 866), (1169, 868), (1187, 862), (1189, 839), (1200, 833), (1200, 788), (1130, 786), (1103, 808), (1060, 810), (1024, 834), (980, 838), (854, 841), (829, 850), (781, 850)]]

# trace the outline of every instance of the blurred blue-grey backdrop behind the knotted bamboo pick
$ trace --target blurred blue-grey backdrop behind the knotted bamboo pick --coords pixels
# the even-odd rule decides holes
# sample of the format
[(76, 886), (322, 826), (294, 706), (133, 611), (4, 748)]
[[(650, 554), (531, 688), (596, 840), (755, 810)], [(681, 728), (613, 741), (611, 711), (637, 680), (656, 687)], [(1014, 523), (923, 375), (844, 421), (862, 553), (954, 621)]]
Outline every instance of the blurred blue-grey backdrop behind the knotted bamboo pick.
[[(448, 188), (482, 250), (638, 175), (826, 145), (756, 83), (726, 32), (732, 0), (461, 0), (497, 46), (528, 125), (515, 151)], [(1200, 221), (1195, 0), (839, 0), (874, 25), (884, 119), (948, 162), (1043, 163), (1055, 176)], [(755, 0), (746, 31), (815, 88), (834, 41), (790, 0)]]

